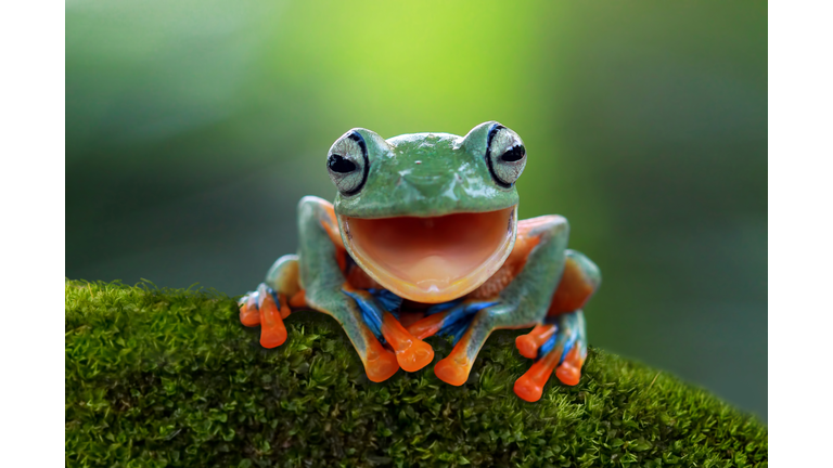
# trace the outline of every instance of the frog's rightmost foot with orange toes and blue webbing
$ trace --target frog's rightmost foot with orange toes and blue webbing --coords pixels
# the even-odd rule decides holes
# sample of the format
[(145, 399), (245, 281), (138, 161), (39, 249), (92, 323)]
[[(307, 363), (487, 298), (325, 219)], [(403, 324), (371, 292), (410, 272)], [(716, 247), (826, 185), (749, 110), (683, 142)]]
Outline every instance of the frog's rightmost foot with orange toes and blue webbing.
[(541, 399), (543, 387), (552, 372), (564, 385), (577, 385), (587, 358), (585, 317), (580, 310), (556, 315), (548, 324), (538, 325), (528, 335), (517, 337), (521, 354), (536, 362), (515, 381), (515, 394), (528, 402)]

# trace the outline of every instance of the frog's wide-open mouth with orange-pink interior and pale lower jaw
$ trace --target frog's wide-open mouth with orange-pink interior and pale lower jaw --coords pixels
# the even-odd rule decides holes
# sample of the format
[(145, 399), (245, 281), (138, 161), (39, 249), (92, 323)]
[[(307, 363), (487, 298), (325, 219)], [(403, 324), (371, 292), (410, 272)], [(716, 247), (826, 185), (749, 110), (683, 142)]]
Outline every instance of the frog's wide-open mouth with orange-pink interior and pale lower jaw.
[(380, 285), (439, 303), (471, 292), (500, 269), (515, 244), (517, 205), (423, 218), (338, 216), (338, 224), (347, 251)]

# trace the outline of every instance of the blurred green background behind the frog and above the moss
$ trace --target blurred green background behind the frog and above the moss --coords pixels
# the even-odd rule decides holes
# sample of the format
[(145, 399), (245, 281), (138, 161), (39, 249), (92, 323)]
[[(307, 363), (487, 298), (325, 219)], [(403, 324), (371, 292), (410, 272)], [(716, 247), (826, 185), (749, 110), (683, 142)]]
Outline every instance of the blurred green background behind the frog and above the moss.
[(766, 419), (766, 2), (69, 0), (66, 275), (243, 294), (343, 132), (491, 119), (602, 269), (590, 342)]

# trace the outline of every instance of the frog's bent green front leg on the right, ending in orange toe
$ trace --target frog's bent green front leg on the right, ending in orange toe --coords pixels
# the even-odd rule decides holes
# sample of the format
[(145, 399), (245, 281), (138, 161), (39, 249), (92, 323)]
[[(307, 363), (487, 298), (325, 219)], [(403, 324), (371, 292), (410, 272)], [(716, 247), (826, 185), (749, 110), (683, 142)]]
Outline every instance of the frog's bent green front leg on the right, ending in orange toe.
[[(547, 216), (522, 221), (517, 229), (516, 249), (529, 248), (528, 255), (515, 260), (520, 262), (520, 273), (491, 298), (496, 304), (474, 314), (451, 353), (436, 364), (434, 373), (440, 380), (463, 385), (492, 330), (531, 327), (543, 322), (564, 268), (569, 227), (563, 217)], [(419, 328), (419, 323), (412, 327)]]

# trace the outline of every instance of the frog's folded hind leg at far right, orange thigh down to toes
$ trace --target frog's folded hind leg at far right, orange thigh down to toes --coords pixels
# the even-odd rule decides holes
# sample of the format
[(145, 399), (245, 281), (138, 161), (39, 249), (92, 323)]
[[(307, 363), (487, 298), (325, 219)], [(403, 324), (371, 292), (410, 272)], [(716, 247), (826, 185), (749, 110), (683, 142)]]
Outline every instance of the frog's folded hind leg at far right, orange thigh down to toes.
[(599, 268), (582, 253), (566, 250), (565, 257), (564, 273), (544, 323), (515, 340), (522, 355), (536, 359), (533, 367), (515, 382), (515, 393), (526, 401), (541, 398), (553, 370), (563, 384), (577, 385), (587, 358), (581, 308), (599, 288), (602, 278)]

